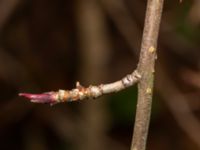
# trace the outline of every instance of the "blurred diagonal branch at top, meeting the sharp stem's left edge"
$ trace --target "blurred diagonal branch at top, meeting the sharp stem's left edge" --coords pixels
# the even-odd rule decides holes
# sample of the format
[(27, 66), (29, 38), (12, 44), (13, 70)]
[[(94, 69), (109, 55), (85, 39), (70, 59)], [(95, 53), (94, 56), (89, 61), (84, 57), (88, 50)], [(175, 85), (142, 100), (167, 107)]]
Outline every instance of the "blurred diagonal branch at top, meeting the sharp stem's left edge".
[(131, 18), (130, 13), (123, 0), (99, 0), (110, 18), (115, 23), (121, 35), (135, 54), (139, 54), (139, 43), (141, 31), (136, 22)]

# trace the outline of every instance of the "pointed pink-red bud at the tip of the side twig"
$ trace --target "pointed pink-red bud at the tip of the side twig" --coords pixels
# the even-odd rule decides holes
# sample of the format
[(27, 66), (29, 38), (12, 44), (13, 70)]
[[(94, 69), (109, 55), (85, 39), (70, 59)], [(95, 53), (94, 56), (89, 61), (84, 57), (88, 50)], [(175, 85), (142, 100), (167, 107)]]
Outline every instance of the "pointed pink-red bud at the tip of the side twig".
[(55, 92), (47, 92), (42, 94), (19, 93), (19, 96), (28, 98), (31, 102), (34, 103), (49, 103), (49, 104), (57, 103)]

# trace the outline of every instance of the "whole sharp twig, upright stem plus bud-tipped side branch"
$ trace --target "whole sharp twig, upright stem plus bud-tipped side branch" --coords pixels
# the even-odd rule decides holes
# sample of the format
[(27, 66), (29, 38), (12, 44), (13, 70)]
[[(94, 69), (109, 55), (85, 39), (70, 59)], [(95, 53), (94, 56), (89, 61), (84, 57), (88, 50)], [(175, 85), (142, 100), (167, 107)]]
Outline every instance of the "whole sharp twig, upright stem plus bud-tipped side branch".
[(27, 97), (31, 99), (32, 102), (55, 104), (65, 101), (82, 100), (85, 98), (97, 98), (103, 94), (118, 92), (132, 86), (140, 79), (131, 150), (145, 150), (151, 114), (154, 64), (163, 1), (164, 0), (148, 0), (138, 69), (131, 75), (127, 75), (122, 80), (110, 84), (85, 88), (77, 82), (76, 88), (70, 91), (59, 90), (58, 92), (43, 94), (21, 93), (20, 96)]

